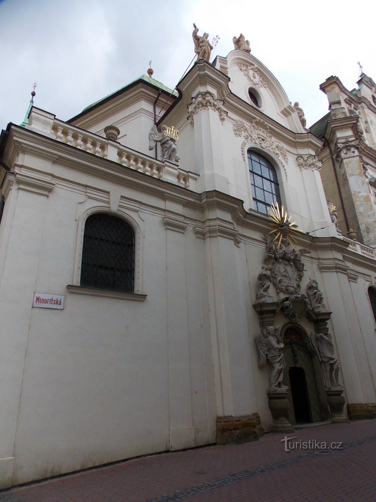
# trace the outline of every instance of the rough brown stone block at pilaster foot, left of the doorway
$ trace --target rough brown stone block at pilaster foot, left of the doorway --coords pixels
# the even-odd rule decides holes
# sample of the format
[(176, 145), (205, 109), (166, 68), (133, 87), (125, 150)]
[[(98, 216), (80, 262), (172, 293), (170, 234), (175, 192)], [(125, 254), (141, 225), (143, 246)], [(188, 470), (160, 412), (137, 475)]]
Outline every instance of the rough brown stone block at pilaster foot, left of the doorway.
[(241, 444), (258, 441), (264, 435), (258, 413), (217, 417), (217, 444)]

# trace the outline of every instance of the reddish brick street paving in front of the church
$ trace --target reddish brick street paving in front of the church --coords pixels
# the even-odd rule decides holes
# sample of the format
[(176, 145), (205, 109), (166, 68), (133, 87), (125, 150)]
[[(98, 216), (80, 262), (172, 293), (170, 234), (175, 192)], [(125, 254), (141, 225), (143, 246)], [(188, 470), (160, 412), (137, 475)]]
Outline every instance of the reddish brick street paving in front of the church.
[(124, 461), (0, 491), (0, 502), (376, 502), (376, 420), (296, 431), (341, 450), (284, 450), (280, 434)]

